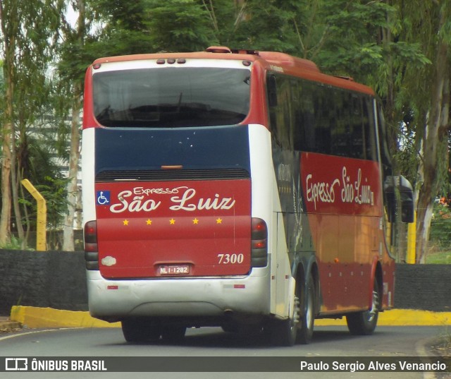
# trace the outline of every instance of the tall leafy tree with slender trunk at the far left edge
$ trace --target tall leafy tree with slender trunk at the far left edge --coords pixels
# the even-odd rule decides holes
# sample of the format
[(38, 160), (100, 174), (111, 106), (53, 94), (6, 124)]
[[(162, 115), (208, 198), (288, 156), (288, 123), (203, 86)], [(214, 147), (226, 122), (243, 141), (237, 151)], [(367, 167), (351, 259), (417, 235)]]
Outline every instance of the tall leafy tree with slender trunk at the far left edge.
[(1, 0), (0, 54), (4, 59), (4, 114), (1, 119), (1, 214), (0, 245), (11, 238), (11, 207), (20, 239), (18, 187), (20, 167), (16, 147), (37, 109), (47, 101), (47, 64), (57, 36), (62, 0)]

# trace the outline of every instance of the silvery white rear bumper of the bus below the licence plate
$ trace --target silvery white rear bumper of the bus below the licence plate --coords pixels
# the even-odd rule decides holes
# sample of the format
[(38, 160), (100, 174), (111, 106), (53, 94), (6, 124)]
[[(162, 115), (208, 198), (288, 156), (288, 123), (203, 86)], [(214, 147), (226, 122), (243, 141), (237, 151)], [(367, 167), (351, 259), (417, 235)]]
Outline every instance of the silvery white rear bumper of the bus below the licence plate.
[(268, 315), (268, 270), (259, 275), (228, 278), (164, 278), (111, 280), (87, 271), (89, 312), (116, 321), (128, 317), (203, 318)]

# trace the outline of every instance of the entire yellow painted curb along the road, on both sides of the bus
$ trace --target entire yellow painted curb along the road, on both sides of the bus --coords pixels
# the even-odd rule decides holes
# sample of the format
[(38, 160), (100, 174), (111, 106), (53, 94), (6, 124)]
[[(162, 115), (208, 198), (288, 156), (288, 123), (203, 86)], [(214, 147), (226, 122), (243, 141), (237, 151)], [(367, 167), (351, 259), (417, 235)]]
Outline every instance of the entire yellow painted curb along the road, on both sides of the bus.
[[(120, 327), (120, 323), (92, 318), (89, 312), (63, 311), (54, 308), (38, 308), (31, 306), (13, 306), (8, 323), (25, 327)], [(0, 321), (0, 330), (3, 323)], [(341, 320), (320, 319), (315, 325), (333, 326), (346, 325), (345, 318)], [(378, 325), (393, 326), (425, 326), (451, 325), (451, 312), (431, 312), (412, 309), (393, 309), (379, 314)]]

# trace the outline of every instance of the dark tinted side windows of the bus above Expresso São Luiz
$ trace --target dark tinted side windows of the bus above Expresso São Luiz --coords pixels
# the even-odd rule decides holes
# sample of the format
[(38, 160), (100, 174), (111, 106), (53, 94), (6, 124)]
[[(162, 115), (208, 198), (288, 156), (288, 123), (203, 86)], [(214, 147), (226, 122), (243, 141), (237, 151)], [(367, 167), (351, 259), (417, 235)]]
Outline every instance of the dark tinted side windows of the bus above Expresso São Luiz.
[(368, 96), (280, 75), (275, 80), (277, 100), (269, 108), (269, 116), (280, 147), (377, 159), (374, 115)]

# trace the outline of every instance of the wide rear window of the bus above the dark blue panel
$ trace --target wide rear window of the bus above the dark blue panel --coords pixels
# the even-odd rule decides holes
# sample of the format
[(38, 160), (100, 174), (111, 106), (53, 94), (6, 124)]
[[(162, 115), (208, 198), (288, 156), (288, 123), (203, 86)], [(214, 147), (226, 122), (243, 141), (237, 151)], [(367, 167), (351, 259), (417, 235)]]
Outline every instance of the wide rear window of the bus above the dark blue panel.
[(249, 112), (250, 71), (139, 68), (93, 76), (94, 113), (110, 127), (239, 124)]

